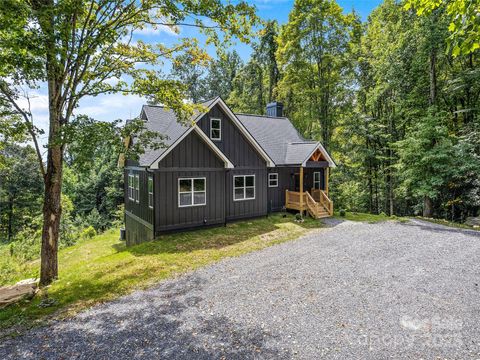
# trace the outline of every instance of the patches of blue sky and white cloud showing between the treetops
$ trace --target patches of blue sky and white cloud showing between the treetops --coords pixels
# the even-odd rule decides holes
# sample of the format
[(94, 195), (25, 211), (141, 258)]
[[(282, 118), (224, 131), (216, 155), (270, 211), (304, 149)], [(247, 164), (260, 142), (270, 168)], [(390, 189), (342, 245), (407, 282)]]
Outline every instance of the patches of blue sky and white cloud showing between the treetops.
[[(261, 18), (276, 19), (280, 24), (288, 21), (288, 14), (293, 7), (293, 0), (250, 0), (249, 2), (257, 7), (258, 15)], [(355, 9), (362, 19), (366, 20), (368, 14), (381, 3), (381, 0), (337, 0), (337, 2), (345, 12), (351, 12), (352, 9)], [(192, 28), (181, 29), (179, 35), (168, 29), (163, 31), (146, 29), (142, 33), (137, 34), (136, 38), (149, 43), (162, 42), (169, 45), (178, 41), (179, 37), (186, 36), (198, 37), (198, 33)], [(233, 48), (237, 50), (244, 60), (248, 60), (251, 52), (248, 45), (236, 44)], [(31, 94), (34, 96), (31, 100), (31, 106), (35, 124), (46, 130), (48, 123), (46, 87), (41, 86), (40, 89), (31, 92)], [(83, 99), (75, 113), (86, 114), (102, 121), (125, 120), (137, 116), (144, 103), (145, 100), (137, 96), (124, 96), (121, 94), (103, 95)], [(44, 143), (46, 135), (42, 136), (40, 140)]]

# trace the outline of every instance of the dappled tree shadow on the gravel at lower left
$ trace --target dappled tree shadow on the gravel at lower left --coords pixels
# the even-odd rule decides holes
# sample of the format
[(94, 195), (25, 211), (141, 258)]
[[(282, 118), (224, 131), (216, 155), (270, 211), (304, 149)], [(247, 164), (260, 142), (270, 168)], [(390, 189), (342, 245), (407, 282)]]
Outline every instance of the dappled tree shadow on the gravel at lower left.
[[(193, 274), (30, 331), (0, 358), (287, 359), (279, 335), (202, 311), (205, 279)], [(45, 346), (48, 344), (48, 346)]]

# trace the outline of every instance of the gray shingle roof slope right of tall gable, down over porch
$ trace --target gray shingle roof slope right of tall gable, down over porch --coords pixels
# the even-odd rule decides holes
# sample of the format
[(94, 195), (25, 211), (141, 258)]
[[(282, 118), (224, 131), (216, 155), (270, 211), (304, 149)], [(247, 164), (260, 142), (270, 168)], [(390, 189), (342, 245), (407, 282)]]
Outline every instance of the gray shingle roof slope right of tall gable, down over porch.
[(276, 165), (299, 165), (318, 145), (305, 140), (285, 117), (236, 114)]

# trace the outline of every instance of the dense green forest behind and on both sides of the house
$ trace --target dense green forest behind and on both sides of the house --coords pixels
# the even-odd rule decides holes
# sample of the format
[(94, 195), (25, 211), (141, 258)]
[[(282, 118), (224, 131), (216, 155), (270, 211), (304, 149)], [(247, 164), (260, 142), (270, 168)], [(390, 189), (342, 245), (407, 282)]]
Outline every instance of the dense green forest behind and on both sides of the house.
[[(235, 51), (211, 61), (188, 54), (171, 77), (190, 100), (220, 95), (235, 112), (284, 103), (300, 133), (333, 154), (335, 208), (462, 222), (480, 208), (479, 51), (450, 46), (449, 15), (424, 16), (386, 0), (366, 22), (335, 1), (297, 0), (289, 21), (267, 22), (244, 63)], [(0, 242), (38, 256), (43, 183), (25, 139), (0, 149)], [(66, 148), (61, 246), (122, 221), (118, 151), (95, 146), (89, 161)]]

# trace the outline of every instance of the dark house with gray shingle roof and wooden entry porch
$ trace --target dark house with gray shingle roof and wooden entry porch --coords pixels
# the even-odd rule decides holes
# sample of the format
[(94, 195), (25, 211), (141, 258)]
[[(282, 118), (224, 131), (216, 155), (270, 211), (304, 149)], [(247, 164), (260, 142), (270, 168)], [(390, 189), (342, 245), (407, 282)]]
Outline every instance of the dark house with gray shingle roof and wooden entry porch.
[(127, 244), (161, 233), (221, 225), (284, 208), (330, 216), (330, 155), (305, 140), (271, 103), (267, 115), (234, 114), (217, 97), (190, 126), (173, 111), (145, 105), (141, 119), (167, 136), (165, 147), (126, 160)]

